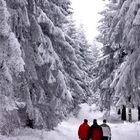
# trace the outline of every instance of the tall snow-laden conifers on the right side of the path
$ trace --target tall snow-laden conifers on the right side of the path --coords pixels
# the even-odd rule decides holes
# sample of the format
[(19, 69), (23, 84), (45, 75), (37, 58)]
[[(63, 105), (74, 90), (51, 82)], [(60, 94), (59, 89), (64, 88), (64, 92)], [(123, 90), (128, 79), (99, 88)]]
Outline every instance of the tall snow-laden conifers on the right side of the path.
[[(103, 43), (108, 43), (113, 53), (109, 54), (107, 65), (113, 64), (112, 71), (108, 71), (108, 67), (102, 68), (103, 72), (108, 76), (101, 77), (101, 81), (111, 78), (109, 89), (113, 89), (112, 104), (123, 106), (128, 104), (128, 98), (131, 97), (131, 106), (137, 107), (140, 102), (139, 94), (139, 1), (120, 0), (115, 4), (116, 14), (111, 19), (111, 26), (104, 28), (110, 21), (107, 21), (109, 13), (104, 15), (104, 23), (101, 24), (101, 32), (103, 35), (110, 30), (107, 37), (102, 37)], [(114, 8), (109, 8), (114, 11)], [(104, 31), (102, 31), (104, 29)], [(106, 55), (106, 52), (104, 52)], [(105, 60), (103, 60), (105, 61)], [(112, 64), (109, 63), (112, 61)], [(104, 64), (103, 64), (104, 65)], [(105, 65), (104, 65), (105, 66)], [(102, 73), (103, 73), (102, 72)], [(104, 93), (106, 94), (107, 91)], [(120, 100), (118, 97), (121, 97)], [(113, 103), (114, 102), (114, 103)]]

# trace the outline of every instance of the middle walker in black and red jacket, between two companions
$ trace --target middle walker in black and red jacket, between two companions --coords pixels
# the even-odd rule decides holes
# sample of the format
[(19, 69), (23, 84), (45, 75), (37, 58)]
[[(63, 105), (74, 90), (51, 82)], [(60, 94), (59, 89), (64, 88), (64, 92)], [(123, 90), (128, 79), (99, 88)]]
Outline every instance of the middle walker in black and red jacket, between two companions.
[(93, 120), (93, 125), (89, 128), (88, 140), (102, 140), (103, 130), (102, 127), (98, 125), (97, 120)]

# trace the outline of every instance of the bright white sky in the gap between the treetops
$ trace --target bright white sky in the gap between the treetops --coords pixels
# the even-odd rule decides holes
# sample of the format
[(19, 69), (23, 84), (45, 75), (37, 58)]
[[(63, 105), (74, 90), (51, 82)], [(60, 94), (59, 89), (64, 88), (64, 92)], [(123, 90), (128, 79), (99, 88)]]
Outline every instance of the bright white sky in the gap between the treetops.
[(101, 16), (99, 11), (104, 9), (103, 0), (71, 0), (74, 9), (74, 20), (76, 23), (83, 24), (87, 39), (92, 42), (99, 34), (97, 31), (98, 21)]

